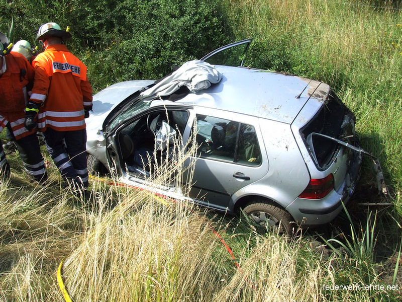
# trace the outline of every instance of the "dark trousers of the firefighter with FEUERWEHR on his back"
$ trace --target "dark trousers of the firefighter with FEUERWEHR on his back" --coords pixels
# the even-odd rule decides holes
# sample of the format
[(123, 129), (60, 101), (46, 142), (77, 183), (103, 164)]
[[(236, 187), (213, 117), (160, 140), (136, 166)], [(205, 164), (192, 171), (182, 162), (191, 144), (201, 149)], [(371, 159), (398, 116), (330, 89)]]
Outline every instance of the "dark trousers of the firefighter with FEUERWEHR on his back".
[(86, 130), (57, 131), (47, 128), (43, 137), (61, 176), (73, 186), (88, 187)]

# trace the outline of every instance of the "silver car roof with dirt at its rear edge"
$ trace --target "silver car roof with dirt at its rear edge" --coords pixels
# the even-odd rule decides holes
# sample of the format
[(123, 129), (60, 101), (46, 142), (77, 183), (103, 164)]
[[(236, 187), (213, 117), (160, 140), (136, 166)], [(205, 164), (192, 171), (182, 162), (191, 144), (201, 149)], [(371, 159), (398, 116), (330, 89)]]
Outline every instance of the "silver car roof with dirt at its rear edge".
[[(291, 123), (306, 102), (321, 102), (330, 87), (322, 82), (282, 73), (214, 65), (222, 80), (210, 88), (189, 93), (177, 104), (202, 106)], [(316, 104), (314, 107), (321, 107)], [(313, 113), (314, 114), (314, 113)]]

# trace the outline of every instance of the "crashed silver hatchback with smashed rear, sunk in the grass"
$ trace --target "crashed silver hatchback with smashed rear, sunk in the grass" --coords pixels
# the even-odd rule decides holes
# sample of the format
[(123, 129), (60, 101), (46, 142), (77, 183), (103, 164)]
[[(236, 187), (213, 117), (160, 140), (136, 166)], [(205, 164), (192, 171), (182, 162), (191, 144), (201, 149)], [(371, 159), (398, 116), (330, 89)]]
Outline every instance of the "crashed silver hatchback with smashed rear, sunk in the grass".
[[(238, 58), (250, 42), (159, 81), (122, 82), (94, 95), (89, 169), (229, 214), (243, 209), (257, 226), (286, 235), (333, 220), (359, 177), (361, 155), (339, 143), (354, 143), (354, 115), (327, 84), (242, 67)], [(201, 82), (193, 85), (195, 78)], [(188, 175), (152, 184), (151, 163), (166, 155), (169, 141), (186, 145), (194, 133), (189, 197), (181, 191)]]

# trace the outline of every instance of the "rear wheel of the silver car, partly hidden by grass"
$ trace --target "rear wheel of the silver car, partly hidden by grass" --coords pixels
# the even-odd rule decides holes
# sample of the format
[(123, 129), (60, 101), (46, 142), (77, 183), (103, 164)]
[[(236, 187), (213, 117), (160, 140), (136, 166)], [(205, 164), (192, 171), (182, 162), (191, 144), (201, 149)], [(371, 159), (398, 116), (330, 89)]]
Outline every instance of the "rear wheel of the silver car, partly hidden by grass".
[(289, 213), (271, 203), (251, 202), (243, 211), (260, 234), (270, 231), (291, 238), (297, 230), (297, 225)]

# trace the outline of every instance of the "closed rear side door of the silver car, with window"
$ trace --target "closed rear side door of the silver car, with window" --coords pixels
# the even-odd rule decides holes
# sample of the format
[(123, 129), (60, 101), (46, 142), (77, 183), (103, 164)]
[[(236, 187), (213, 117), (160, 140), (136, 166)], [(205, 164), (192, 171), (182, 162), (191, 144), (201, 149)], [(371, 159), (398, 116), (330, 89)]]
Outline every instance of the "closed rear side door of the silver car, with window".
[(226, 210), (234, 193), (268, 171), (258, 118), (202, 109), (196, 114), (195, 130), (199, 148), (189, 195)]

